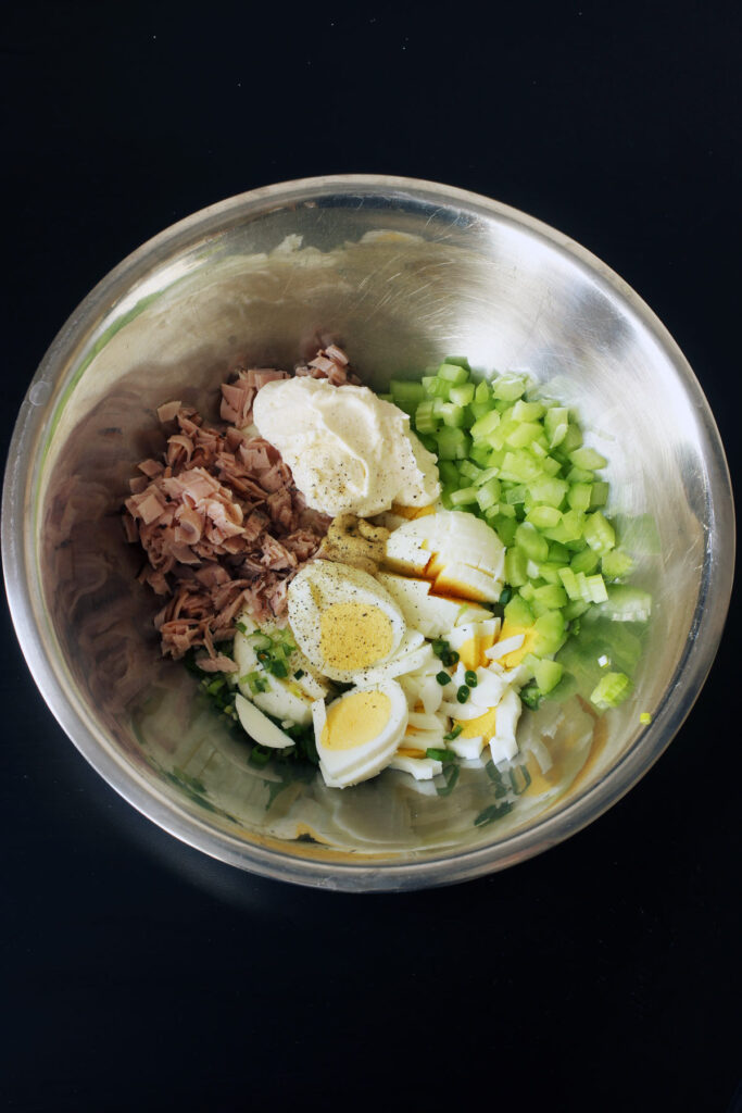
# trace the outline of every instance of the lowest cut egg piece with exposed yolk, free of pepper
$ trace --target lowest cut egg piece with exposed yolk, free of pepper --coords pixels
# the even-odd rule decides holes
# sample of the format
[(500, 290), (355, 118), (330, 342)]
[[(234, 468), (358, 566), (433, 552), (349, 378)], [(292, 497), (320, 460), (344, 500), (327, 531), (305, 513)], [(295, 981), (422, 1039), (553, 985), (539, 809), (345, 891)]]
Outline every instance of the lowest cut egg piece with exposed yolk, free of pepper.
[(326, 784), (346, 788), (380, 772), (397, 751), (407, 717), (405, 693), (394, 680), (354, 688), (328, 707), (315, 705), (315, 743)]

